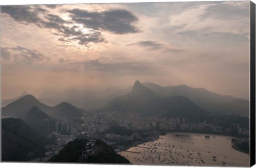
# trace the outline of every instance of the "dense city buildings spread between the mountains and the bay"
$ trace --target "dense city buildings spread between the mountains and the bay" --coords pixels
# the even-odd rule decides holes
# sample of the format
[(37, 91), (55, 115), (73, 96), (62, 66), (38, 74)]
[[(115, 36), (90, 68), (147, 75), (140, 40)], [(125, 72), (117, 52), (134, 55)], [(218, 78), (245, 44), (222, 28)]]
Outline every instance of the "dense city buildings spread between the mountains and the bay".
[[(167, 132), (194, 132), (235, 137), (249, 138), (249, 130), (239, 124), (229, 127), (213, 123), (186, 123), (185, 118), (142, 117), (134, 113), (111, 111), (109, 113), (91, 113), (81, 118), (59, 118), (50, 124), (48, 119), (43, 121), (43, 134), (52, 139), (54, 144), (45, 148), (47, 161), (51, 156), (76, 138), (102, 139), (115, 151), (122, 151), (147, 141), (154, 141), (159, 135)], [(110, 130), (114, 127), (113, 130)], [(108, 132), (110, 130), (110, 132)], [(93, 146), (93, 145), (92, 145)], [(91, 153), (93, 154), (93, 153)], [(39, 161), (35, 159), (34, 161)]]

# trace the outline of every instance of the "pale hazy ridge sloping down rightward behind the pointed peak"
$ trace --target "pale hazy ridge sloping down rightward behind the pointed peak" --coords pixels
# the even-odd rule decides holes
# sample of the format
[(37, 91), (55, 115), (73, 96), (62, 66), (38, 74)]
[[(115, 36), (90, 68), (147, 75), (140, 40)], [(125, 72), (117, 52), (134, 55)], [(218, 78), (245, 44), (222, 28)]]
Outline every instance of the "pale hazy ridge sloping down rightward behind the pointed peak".
[(166, 87), (154, 83), (143, 83), (143, 85), (153, 90), (159, 97), (182, 95), (193, 101), (197, 106), (214, 114), (249, 116), (248, 100), (231, 97), (230, 95), (221, 95), (204, 88), (194, 88), (187, 85)]

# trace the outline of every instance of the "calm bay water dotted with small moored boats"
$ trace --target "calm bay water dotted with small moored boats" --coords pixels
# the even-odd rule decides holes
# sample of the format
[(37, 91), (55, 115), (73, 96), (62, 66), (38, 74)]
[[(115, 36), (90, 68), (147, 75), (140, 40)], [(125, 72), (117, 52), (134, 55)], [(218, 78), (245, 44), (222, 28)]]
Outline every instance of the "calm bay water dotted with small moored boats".
[(132, 164), (142, 165), (249, 166), (250, 156), (231, 145), (231, 137), (173, 133), (119, 154)]

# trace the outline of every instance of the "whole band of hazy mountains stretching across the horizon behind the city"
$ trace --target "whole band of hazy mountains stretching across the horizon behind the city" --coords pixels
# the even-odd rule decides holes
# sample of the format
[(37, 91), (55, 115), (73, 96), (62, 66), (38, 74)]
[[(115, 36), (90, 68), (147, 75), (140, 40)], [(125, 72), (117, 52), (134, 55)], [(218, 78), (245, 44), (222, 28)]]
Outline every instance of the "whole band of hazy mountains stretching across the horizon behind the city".
[[(54, 99), (55, 102), (58, 102), (60, 99), (70, 100), (72, 104), (75, 103), (79, 106), (75, 105), (75, 107), (69, 101), (62, 101), (58, 102), (58, 105), (49, 106), (39, 101), (44, 100), (44, 98), (47, 101)], [(39, 100), (31, 94), (16, 99), (12, 99), (14, 100), (13, 102), (2, 107), (2, 116), (12, 117), (34, 106), (49, 116), (68, 117), (83, 116), (86, 111), (81, 109), (81, 107), (84, 107), (84, 109), (94, 107), (94, 109), (103, 110), (137, 111), (142, 115), (157, 114), (156, 116), (158, 117), (171, 117), (177, 116), (177, 114), (180, 116), (188, 115), (192, 113), (188, 112), (191, 110), (194, 111), (193, 113), (198, 114), (210, 112), (213, 115), (249, 116), (249, 101), (244, 99), (220, 95), (203, 88), (193, 88), (187, 85), (165, 87), (155, 83), (140, 83), (139, 81), (136, 81), (133, 87), (124, 90), (115, 88), (104, 91), (70, 89), (66, 92), (52, 91), (52, 95), (50, 92), (43, 92)], [(182, 111), (187, 111), (187, 113)]]

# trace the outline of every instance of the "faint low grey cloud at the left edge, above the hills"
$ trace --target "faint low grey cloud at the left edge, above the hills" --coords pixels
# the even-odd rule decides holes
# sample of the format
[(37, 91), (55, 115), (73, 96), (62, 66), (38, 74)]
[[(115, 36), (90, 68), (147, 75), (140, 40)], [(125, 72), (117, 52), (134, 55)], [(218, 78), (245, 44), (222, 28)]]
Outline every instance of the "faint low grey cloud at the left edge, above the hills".
[(36, 50), (27, 49), (22, 46), (3, 47), (1, 48), (1, 50), (2, 58), (5, 60), (11, 60), (11, 58), (13, 58), (13, 62), (34, 62), (50, 60), (50, 58), (46, 57), (44, 54)]

